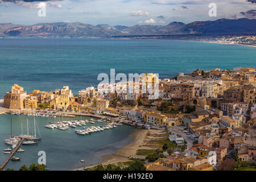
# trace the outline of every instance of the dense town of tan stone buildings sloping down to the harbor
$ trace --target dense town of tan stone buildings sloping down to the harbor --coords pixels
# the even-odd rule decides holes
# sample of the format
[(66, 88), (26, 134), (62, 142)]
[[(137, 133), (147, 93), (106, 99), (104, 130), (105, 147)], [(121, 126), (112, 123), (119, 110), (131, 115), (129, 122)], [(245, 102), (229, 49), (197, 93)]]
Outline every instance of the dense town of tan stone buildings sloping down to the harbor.
[(91, 170), (104, 170), (105, 164), (125, 168), (129, 160), (148, 171), (255, 170), (255, 74), (255, 68), (242, 67), (196, 69), (164, 80), (145, 73), (147, 86), (158, 83), (154, 99), (154, 93), (143, 92), (141, 82), (135, 81), (138, 92), (125, 92), (131, 84), (127, 81), (90, 86), (75, 96), (69, 86), (27, 93), (14, 84), (0, 114), (91, 115), (143, 129), (133, 146), (135, 154)]

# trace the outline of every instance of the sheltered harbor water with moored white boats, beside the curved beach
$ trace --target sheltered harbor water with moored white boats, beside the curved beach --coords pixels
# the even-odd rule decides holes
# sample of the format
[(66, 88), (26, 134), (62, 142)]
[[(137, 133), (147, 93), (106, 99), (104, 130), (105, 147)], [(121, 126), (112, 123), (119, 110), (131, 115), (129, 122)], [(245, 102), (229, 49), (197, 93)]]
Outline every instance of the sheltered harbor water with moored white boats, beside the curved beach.
[[(109, 129), (104, 129), (102, 131), (98, 127), (103, 128), (114, 124), (98, 118), (84, 117), (81, 115), (78, 115), (75, 118), (53, 118), (36, 117), (24, 114), (2, 114), (0, 115), (2, 125), (0, 129), (0, 139), (2, 140), (2, 142), (0, 142), (0, 150), (2, 151), (2, 154), (0, 155), (1, 164), (3, 164), (10, 155), (4, 154), (5, 149), (8, 147), (5, 144), (4, 139), (10, 137), (10, 119), (12, 119), (13, 122), (13, 136), (21, 136), (22, 133), (27, 135), (27, 121), (30, 131), (28, 135), (34, 136), (34, 118), (36, 121), (35, 126), (38, 125), (42, 140), (38, 141), (39, 143), (33, 146), (22, 145), (21, 149), (24, 150), (24, 152), (18, 152), (20, 149), (18, 148), (17, 152), (15, 152), (15, 156), (20, 158), (20, 160), (10, 160), (5, 168), (14, 168), (15, 170), (18, 170), (23, 164), (30, 166), (32, 163), (38, 163), (39, 151), (46, 152), (47, 167), (51, 170), (69, 170), (85, 165), (93, 165), (101, 162), (101, 156), (112, 154), (118, 148), (126, 146), (126, 144), (132, 142), (129, 136), (138, 130), (127, 125), (119, 125), (117, 127), (109, 127)], [(46, 127), (49, 122), (56, 123), (57, 125), (59, 119), (59, 124), (62, 124), (63, 121), (72, 123), (72, 121), (86, 121), (86, 119), (88, 122), (86, 122), (85, 125), (69, 127), (66, 130), (59, 130), (57, 128), (49, 129)], [(93, 119), (93, 121), (90, 121), (90, 119)], [(23, 125), (23, 131), (21, 123)], [(118, 123), (116, 122), (116, 124)], [(92, 130), (94, 127), (100, 131), (95, 129), (96, 131), (85, 135), (77, 134), (77, 131), (75, 131)], [(36, 134), (36, 137), (38, 137), (39, 133), (37, 127)], [(81, 159), (85, 160), (86, 163), (81, 163)]]

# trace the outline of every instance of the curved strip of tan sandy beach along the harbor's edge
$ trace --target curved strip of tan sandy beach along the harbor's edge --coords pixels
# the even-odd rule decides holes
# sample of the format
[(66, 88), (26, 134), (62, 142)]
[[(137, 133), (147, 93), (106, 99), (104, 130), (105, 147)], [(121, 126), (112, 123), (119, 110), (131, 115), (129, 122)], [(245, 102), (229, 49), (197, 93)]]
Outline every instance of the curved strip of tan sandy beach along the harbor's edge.
[[(112, 155), (104, 155), (102, 156), (102, 162), (98, 164), (108, 165), (108, 164), (115, 164), (119, 162), (127, 162), (129, 161), (129, 156), (136, 156), (136, 152), (138, 149), (144, 148), (141, 147), (146, 144), (145, 140), (147, 137), (148, 132), (151, 134), (160, 133), (160, 130), (139, 130), (132, 134), (132, 138), (134, 141), (126, 146), (120, 148), (119, 150), (115, 151)], [(85, 166), (86, 168), (92, 168), (97, 166), (98, 164), (92, 166)], [(82, 170), (82, 168), (77, 168), (74, 170)]]

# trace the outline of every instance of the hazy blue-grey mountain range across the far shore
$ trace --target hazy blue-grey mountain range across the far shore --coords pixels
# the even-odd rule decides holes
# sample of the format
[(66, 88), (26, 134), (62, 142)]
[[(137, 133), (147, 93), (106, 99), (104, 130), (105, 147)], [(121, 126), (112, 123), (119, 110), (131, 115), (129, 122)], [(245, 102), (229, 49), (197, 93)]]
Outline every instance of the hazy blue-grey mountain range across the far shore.
[(218, 19), (192, 23), (172, 22), (166, 26), (136, 24), (110, 26), (85, 23), (38, 23), (31, 26), (0, 23), (1, 37), (94, 37), (110, 38), (129, 35), (256, 34), (256, 19)]

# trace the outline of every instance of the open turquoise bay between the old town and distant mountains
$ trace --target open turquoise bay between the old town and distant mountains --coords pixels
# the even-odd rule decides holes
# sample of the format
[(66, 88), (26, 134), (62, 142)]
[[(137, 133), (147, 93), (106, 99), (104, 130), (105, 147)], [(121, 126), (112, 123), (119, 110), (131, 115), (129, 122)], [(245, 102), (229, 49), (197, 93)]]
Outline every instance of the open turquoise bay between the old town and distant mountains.
[(0, 98), (17, 83), (28, 92), (97, 86), (99, 73), (159, 73), (256, 66), (256, 48), (173, 40), (1, 39)]

